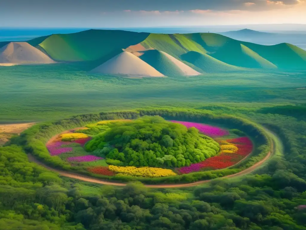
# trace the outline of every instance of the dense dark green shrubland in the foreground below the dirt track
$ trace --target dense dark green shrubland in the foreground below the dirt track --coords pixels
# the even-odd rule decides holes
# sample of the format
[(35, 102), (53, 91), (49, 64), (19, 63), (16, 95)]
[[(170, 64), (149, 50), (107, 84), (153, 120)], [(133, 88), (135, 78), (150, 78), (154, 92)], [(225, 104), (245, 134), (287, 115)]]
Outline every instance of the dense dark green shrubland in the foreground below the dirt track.
[(289, 168), (152, 190), (139, 183), (119, 188), (66, 181), (29, 163), (14, 145), (0, 147), (0, 159), (1, 230), (306, 229), (306, 182)]

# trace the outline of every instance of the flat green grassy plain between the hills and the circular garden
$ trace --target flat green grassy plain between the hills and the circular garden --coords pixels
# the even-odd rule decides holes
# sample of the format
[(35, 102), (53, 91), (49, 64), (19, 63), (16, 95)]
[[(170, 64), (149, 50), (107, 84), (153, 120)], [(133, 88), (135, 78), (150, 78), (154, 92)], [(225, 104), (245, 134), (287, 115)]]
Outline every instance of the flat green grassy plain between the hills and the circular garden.
[[(46, 121), (73, 114), (150, 106), (203, 108), (303, 103), (305, 72), (261, 71), (195, 77), (125, 79), (90, 75), (86, 65), (0, 67), (0, 121)], [(248, 105), (252, 102), (252, 106)]]

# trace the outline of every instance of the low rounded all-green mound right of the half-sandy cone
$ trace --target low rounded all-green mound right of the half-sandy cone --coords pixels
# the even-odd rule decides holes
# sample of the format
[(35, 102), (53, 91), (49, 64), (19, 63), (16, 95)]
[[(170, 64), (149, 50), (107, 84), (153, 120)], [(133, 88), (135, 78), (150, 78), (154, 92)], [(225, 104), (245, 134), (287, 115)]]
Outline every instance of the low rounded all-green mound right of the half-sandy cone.
[(192, 63), (206, 73), (220, 73), (243, 70), (242, 67), (226, 64), (218, 59), (215, 59), (207, 54), (190, 51), (181, 55), (184, 61)]

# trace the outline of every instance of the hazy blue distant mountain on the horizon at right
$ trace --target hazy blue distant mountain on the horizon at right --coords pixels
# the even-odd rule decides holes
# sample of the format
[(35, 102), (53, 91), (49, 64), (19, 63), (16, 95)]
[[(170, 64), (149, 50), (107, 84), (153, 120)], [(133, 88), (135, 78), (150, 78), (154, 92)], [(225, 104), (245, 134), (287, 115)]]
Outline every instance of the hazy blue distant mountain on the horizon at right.
[(267, 33), (251, 29), (219, 33), (230, 38), (263, 45), (289, 43), (306, 49), (306, 34), (298, 31), (292, 33)]

